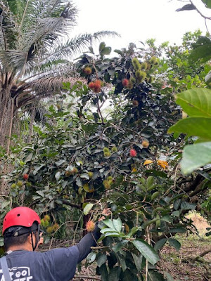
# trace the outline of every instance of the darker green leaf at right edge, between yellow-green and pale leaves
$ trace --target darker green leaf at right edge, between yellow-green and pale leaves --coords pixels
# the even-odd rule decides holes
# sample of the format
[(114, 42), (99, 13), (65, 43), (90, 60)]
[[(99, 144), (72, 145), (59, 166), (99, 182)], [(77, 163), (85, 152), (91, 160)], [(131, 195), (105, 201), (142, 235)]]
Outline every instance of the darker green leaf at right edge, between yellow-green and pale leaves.
[(168, 133), (187, 133), (188, 136), (199, 136), (211, 141), (211, 118), (188, 117), (181, 119), (177, 124), (170, 127)]

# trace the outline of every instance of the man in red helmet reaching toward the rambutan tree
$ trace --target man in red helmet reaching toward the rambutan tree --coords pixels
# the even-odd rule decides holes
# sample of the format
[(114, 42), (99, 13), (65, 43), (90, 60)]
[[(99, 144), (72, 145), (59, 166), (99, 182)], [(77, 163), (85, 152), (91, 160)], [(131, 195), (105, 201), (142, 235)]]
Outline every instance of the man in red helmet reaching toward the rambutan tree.
[[(42, 242), (41, 234), (40, 218), (34, 210), (17, 207), (6, 214), (3, 235), (11, 280), (69, 281), (75, 275), (77, 263), (87, 257), (101, 236), (96, 224), (92, 233), (87, 233), (72, 247), (39, 252), (35, 250)], [(5, 281), (2, 267), (0, 265), (0, 281)]]

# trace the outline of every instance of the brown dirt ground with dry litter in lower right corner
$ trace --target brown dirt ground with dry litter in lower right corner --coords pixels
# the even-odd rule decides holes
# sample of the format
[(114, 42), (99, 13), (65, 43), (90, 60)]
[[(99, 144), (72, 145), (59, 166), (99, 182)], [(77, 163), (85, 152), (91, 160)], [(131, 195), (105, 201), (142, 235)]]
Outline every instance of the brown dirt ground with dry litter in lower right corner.
[[(208, 281), (211, 280), (211, 252), (196, 259), (205, 251), (211, 251), (211, 236), (206, 237), (206, 228), (210, 225), (205, 218), (196, 213), (188, 216), (197, 228), (198, 235), (179, 235), (177, 239), (181, 242), (180, 251), (166, 246), (161, 251), (162, 261), (159, 266), (162, 270), (170, 273), (174, 280)], [(194, 259), (195, 258), (195, 259)]]

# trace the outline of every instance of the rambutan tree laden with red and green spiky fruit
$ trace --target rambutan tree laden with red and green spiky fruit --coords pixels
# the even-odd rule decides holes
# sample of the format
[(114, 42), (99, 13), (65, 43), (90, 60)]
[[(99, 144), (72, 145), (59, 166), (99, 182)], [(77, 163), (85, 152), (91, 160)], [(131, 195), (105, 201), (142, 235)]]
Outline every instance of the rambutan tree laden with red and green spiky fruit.
[(17, 143), (8, 159), (1, 153), (15, 165), (4, 176), (11, 194), (1, 200), (1, 216), (25, 204), (37, 209), (47, 233), (64, 229), (70, 208), (88, 231), (101, 218), (101, 244), (88, 262), (96, 261), (102, 280), (164, 280), (155, 268), (159, 250), (165, 243), (179, 250), (174, 235), (186, 233), (186, 213), (200, 207), (197, 192), (175, 177), (184, 136), (176, 141), (167, 129), (180, 109), (160, 89), (155, 56), (134, 44), (115, 58), (106, 58), (104, 43), (98, 55), (89, 51), (76, 65), (87, 85), (64, 85), (77, 97), (75, 112), (49, 107), (53, 125), (35, 126), (33, 142)]

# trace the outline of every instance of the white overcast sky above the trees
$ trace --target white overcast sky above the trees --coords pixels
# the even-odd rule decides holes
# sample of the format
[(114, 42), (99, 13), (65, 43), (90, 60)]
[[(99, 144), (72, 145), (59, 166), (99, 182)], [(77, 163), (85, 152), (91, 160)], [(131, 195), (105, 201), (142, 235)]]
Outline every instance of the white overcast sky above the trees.
[[(103, 39), (113, 50), (127, 47), (130, 42), (141, 46), (139, 41), (151, 38), (158, 44), (164, 41), (179, 44), (185, 32), (200, 29), (205, 34), (206, 31), (205, 21), (196, 11), (175, 11), (187, 4), (177, 0), (73, 0), (73, 3), (79, 13), (71, 36), (115, 31), (120, 38)], [(194, 3), (207, 15), (211, 14), (201, 0), (194, 0)]]

